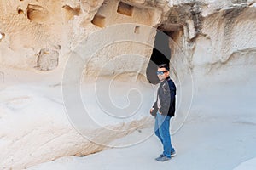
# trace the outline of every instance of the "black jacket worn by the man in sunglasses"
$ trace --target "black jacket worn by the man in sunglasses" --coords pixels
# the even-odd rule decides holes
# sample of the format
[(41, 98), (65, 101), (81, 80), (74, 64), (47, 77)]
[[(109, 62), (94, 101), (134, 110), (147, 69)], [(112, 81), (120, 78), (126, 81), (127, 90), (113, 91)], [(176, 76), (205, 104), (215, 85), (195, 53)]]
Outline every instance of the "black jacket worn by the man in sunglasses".
[(153, 116), (155, 116), (156, 111), (160, 111), (162, 115), (175, 116), (176, 86), (170, 77), (160, 82), (157, 96), (159, 96), (160, 99), (160, 108), (157, 106), (157, 97), (153, 105)]

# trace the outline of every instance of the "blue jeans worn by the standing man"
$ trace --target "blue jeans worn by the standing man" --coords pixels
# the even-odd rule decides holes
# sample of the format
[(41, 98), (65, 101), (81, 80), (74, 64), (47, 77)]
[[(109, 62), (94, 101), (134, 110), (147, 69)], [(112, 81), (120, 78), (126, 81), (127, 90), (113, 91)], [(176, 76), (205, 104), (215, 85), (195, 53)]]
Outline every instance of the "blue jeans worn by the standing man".
[(169, 131), (171, 117), (161, 115), (157, 112), (154, 120), (154, 133), (163, 144), (163, 155), (171, 158), (171, 151), (174, 151)]

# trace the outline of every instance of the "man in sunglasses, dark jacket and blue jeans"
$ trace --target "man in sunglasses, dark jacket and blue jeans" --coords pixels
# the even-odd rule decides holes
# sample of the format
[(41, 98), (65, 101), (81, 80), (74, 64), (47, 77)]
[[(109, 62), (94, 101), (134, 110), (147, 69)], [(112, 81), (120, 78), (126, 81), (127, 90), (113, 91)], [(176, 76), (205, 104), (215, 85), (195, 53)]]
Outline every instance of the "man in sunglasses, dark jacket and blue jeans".
[(154, 116), (154, 133), (163, 145), (163, 153), (155, 158), (156, 161), (168, 161), (176, 155), (172, 147), (170, 136), (170, 120), (175, 113), (176, 86), (169, 77), (169, 65), (158, 65), (157, 76), (160, 79), (160, 87), (157, 91), (157, 99), (150, 114)]

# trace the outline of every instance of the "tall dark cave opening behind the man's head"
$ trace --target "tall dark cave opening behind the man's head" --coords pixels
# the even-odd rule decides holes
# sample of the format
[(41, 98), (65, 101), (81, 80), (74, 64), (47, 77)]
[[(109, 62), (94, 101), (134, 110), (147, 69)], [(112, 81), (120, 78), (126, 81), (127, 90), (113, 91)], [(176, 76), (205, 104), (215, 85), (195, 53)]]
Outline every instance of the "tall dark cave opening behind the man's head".
[[(148, 63), (146, 75), (149, 83), (157, 84), (160, 82), (156, 75), (157, 65), (170, 64), (171, 48), (169, 46), (170, 34), (172, 32), (160, 31), (156, 32), (154, 38), (154, 48)], [(170, 67), (171, 69), (171, 67)]]

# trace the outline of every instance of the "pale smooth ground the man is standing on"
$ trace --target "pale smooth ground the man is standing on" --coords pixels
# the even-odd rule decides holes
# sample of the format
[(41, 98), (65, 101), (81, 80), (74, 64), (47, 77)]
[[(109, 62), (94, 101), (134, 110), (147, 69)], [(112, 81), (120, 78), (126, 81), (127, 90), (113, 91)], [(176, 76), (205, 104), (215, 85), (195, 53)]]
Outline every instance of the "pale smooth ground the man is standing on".
[[(63, 157), (30, 170), (43, 169), (249, 169), (255, 167), (256, 119), (248, 114), (237, 116), (189, 116), (182, 129), (172, 136), (177, 156), (158, 162), (160, 141), (153, 135), (143, 143), (120, 149), (103, 150), (90, 156)], [(144, 129), (142, 133), (153, 131)], [(140, 133), (125, 137), (137, 138)], [(120, 140), (122, 142), (122, 140)], [(240, 165), (241, 164), (241, 165)], [(240, 166), (239, 166), (240, 165)], [(239, 167), (237, 167), (239, 166)]]

